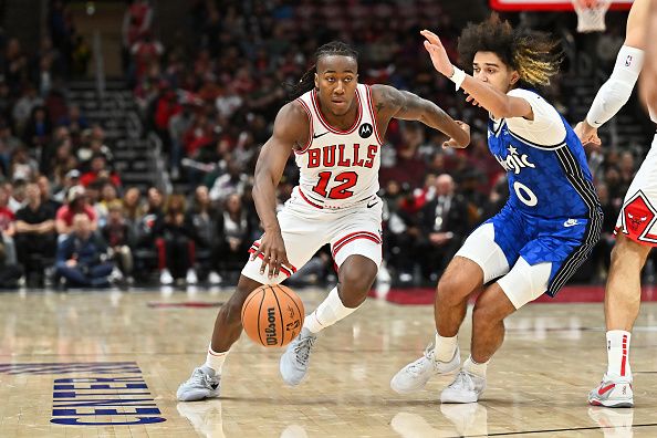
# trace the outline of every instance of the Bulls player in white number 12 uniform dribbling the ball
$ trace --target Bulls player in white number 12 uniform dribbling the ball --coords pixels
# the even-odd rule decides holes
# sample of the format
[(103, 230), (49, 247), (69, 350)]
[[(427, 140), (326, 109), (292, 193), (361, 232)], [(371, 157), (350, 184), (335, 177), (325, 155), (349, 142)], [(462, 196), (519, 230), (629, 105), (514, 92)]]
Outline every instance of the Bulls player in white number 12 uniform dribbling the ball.
[[(292, 275), (324, 244), (331, 244), (338, 283), (305, 317), (281, 357), (283, 380), (301, 383), (317, 333), (363, 304), (382, 262), (382, 201), (376, 192), (392, 118), (444, 132), (451, 137), (445, 146), (470, 142), (469, 126), (436, 104), (390, 86), (358, 84), (357, 53), (348, 45), (332, 42), (315, 55), (316, 66), (298, 85), (303, 95), (280, 109), (255, 166), (253, 199), (264, 234), (251, 247), (237, 291), (217, 315), (206, 364), (180, 385), (179, 400), (219, 396), (223, 361), (242, 331), (246, 298), (262, 284)], [(301, 177), (277, 216), (275, 188), (291, 153)]]

